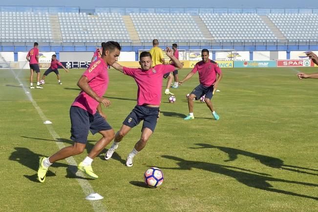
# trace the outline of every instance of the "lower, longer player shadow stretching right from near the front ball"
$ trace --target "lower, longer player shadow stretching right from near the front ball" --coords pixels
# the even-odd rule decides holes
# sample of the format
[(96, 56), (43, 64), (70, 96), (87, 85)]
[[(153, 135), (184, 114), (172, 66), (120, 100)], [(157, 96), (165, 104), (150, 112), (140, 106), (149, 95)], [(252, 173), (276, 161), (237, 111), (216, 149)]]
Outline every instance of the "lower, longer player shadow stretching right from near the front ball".
[[(223, 174), (225, 176), (232, 177), (238, 182), (251, 188), (258, 188), (261, 190), (318, 200), (318, 197), (313, 197), (313, 196), (308, 196), (304, 194), (298, 194), (298, 193), (287, 191), (287, 190), (273, 188), (273, 186), (268, 182), (282, 182), (282, 183), (297, 184), (297, 185), (311, 186), (311, 187), (318, 187), (318, 184), (290, 181), (290, 180), (278, 179), (278, 178), (264, 176), (264, 175), (258, 175), (258, 174), (254, 174), (255, 172), (253, 171), (234, 167), (234, 166), (229, 166), (229, 165), (219, 165), (219, 164), (212, 164), (212, 163), (199, 162), (199, 161), (187, 161), (182, 158), (178, 158), (178, 157), (174, 157), (170, 155), (163, 155), (162, 157), (176, 161), (176, 164), (179, 166), (174, 168), (162, 167), (165, 169), (174, 169), (174, 170), (191, 170), (192, 168), (202, 169), (202, 170), (210, 171), (213, 173)], [(233, 170), (233, 169), (236, 169), (236, 170)], [(252, 172), (252, 173), (249, 173), (249, 172)]]

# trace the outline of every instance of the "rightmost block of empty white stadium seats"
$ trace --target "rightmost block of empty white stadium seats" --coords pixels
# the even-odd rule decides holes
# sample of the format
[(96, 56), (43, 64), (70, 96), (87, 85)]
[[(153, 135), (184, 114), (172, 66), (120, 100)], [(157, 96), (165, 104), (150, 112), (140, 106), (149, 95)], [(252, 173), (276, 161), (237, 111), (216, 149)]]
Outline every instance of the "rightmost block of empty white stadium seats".
[(291, 42), (318, 41), (317, 14), (269, 14), (268, 18)]

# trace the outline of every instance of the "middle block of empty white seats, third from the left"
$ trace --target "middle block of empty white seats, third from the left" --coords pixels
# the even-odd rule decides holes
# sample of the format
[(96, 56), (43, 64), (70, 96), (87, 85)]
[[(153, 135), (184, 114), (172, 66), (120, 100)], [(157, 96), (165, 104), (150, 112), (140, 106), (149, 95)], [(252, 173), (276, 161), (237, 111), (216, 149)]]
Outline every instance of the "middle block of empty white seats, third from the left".
[(130, 13), (142, 43), (159, 39), (160, 42), (200, 42), (202, 32), (190, 14)]

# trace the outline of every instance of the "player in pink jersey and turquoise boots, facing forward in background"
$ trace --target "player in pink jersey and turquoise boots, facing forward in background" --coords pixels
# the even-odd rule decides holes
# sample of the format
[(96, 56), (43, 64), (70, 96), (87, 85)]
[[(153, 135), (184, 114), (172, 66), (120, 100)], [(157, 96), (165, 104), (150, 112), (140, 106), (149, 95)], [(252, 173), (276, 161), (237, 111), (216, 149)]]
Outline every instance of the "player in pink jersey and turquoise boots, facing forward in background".
[[(193, 98), (199, 99), (205, 94), (205, 103), (212, 112), (212, 116), (218, 120), (220, 117), (213, 110), (211, 98), (214, 94), (214, 91), (217, 89), (217, 86), (222, 79), (222, 71), (218, 67), (217, 63), (209, 59), (209, 50), (202, 49), (201, 51), (202, 61), (195, 64), (194, 68), (187, 76), (179, 82), (181, 85), (188, 79), (190, 79), (196, 71), (199, 72), (199, 81), (200, 84), (193, 89), (191, 94), (188, 96), (188, 106), (189, 106), (189, 115), (184, 118), (185, 120), (193, 119)], [(217, 78), (216, 78), (216, 75)]]

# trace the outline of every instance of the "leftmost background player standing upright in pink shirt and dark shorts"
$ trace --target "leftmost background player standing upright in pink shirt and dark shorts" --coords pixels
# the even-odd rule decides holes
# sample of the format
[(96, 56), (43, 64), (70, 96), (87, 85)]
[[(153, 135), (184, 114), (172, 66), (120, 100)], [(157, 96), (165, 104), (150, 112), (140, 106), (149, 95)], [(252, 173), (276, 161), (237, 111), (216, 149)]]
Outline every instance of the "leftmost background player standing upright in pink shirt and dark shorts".
[(31, 48), (26, 55), (26, 60), (30, 64), (30, 89), (34, 89), (33, 86), (33, 74), (37, 73), (37, 88), (42, 89), (40, 85), (40, 67), (39, 67), (39, 44), (34, 43), (33, 48)]

